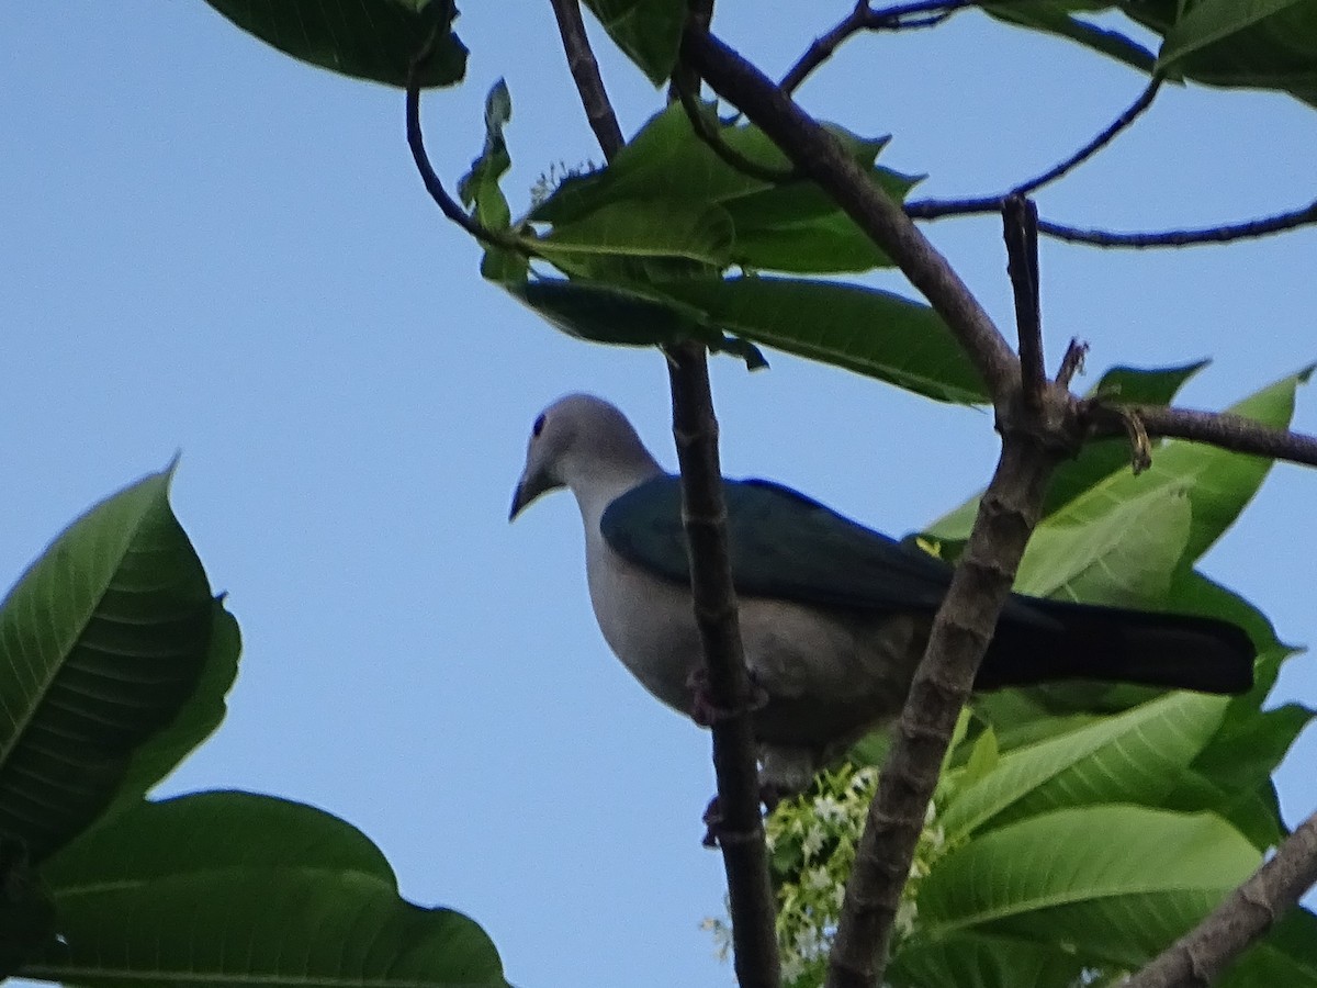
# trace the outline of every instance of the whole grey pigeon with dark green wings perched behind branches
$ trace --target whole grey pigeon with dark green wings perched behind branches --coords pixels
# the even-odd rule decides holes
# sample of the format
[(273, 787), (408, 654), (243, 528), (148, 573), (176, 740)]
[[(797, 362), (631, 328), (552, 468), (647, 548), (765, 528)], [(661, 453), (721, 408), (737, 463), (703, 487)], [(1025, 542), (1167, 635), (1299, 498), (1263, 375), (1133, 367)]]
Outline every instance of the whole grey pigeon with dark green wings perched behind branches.
[[(620, 411), (574, 394), (535, 420), (511, 518), (557, 487), (581, 508), (603, 638), (655, 697), (706, 723), (678, 478)], [(724, 480), (723, 491), (772, 805), (900, 714), (951, 568), (778, 483)], [(1252, 660), (1223, 620), (1011, 594), (975, 689), (1087, 678), (1242, 693)]]

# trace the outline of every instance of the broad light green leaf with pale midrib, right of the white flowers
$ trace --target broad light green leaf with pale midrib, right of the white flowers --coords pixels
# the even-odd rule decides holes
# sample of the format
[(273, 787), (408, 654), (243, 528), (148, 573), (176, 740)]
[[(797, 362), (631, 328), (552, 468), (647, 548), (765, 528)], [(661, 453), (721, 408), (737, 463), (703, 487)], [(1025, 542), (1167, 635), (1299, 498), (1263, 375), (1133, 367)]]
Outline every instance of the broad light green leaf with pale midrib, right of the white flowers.
[(938, 862), (919, 887), (919, 922), (930, 939), (973, 930), (1063, 943), (1090, 964), (1138, 966), (1260, 860), (1210, 814), (1063, 809), (993, 830)]

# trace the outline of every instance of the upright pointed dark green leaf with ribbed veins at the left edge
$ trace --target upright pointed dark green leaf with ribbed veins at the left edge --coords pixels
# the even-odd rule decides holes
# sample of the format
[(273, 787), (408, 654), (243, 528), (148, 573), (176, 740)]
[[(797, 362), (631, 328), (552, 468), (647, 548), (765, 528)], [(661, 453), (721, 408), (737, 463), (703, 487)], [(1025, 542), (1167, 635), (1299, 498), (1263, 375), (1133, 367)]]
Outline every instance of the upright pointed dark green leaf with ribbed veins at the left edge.
[(0, 610), (0, 833), (34, 862), (100, 815), (205, 668), (211, 590), (169, 481), (91, 508)]

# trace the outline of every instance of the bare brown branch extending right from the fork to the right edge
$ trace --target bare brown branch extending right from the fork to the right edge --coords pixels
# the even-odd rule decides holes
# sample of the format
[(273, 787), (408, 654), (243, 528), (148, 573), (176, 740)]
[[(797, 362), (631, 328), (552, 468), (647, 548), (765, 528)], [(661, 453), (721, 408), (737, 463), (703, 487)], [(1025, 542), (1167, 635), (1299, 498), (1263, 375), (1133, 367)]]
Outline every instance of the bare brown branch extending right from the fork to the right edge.
[(1096, 400), (1087, 402), (1083, 414), (1089, 420), (1089, 436), (1093, 439), (1126, 432), (1129, 425), (1123, 418), (1133, 415), (1148, 436), (1209, 443), (1237, 453), (1317, 466), (1317, 436), (1271, 428), (1229, 412), (1205, 412), (1159, 404), (1104, 406), (1101, 400)]

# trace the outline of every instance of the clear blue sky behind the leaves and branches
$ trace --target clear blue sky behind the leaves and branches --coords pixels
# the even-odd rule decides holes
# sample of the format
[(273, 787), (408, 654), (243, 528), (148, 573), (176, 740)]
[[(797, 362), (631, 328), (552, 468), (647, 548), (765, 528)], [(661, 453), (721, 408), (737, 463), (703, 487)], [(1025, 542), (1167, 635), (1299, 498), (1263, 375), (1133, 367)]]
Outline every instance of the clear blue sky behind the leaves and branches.
[[(425, 97), (428, 140), (456, 183), (506, 76), (516, 212), (551, 163), (601, 155), (549, 5), (466, 7), (468, 82)], [(848, 7), (728, 0), (716, 28), (780, 74)], [(412, 169), (399, 92), (292, 62), (200, 0), (4, 4), (0, 36), (0, 560), (16, 577), (182, 449), (175, 507), (245, 652), (228, 721), (169, 790), (345, 817), (404, 894), (475, 917), (519, 984), (730, 984), (698, 929), (722, 909), (722, 863), (699, 847), (707, 738), (607, 652), (570, 499), (506, 522), (529, 423), (565, 391), (615, 400), (674, 462), (661, 358), (569, 340), (479, 279)], [(630, 133), (661, 95), (601, 61)], [(1044, 169), (1142, 86), (965, 14), (852, 41), (802, 100), (892, 133), (884, 162), (954, 195)], [(1314, 120), (1281, 96), (1168, 88), (1040, 211), (1138, 229), (1291, 208), (1312, 196)], [(1011, 325), (997, 221), (926, 229)], [(1317, 357), (1314, 248), (1312, 229), (1189, 252), (1044, 241), (1050, 362), (1072, 335), (1092, 344), (1087, 382), (1210, 356), (1185, 400), (1227, 404)], [(769, 358), (715, 362), (727, 473), (892, 534), (988, 477), (984, 412)], [(1296, 424), (1317, 431), (1310, 394)], [(1317, 638), (1313, 483), (1279, 468), (1208, 561), (1296, 643)], [(1312, 701), (1312, 660), (1280, 689)], [(1281, 769), (1291, 821), (1317, 802), (1314, 759), (1309, 734)]]

